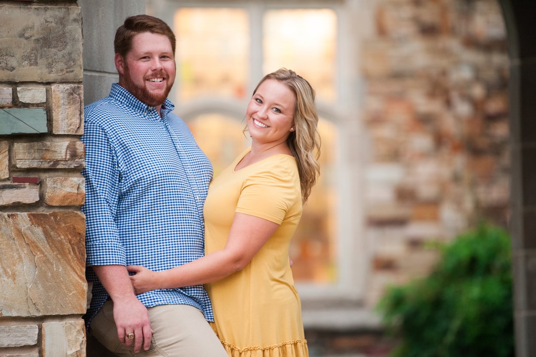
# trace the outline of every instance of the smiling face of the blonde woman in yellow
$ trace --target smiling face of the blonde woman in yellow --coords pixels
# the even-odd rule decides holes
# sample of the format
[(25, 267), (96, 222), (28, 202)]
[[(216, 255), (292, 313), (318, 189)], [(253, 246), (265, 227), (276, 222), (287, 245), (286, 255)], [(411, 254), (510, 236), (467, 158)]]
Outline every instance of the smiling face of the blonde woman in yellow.
[(276, 79), (266, 79), (249, 101), (245, 118), (251, 139), (260, 144), (286, 142), (294, 130), (294, 93)]

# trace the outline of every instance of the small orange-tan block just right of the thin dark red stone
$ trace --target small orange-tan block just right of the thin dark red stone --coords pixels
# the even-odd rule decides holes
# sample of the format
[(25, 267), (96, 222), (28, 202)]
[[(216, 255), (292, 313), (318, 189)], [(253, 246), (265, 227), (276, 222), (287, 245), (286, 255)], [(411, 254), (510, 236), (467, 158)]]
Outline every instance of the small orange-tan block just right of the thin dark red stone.
[(47, 179), (44, 203), (49, 206), (81, 206), (86, 198), (83, 177), (54, 177)]

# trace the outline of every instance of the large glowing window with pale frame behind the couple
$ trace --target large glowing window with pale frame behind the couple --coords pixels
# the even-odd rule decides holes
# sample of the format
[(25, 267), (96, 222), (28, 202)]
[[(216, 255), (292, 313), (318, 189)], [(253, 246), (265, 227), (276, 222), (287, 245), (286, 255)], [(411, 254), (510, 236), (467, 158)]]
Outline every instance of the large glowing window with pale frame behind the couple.
[(341, 26), (349, 26), (341, 3), (146, 1), (147, 13), (173, 24), (177, 78), (170, 97), (216, 173), (249, 145), (242, 134), (245, 108), (265, 74), (289, 68), (316, 89), (321, 176), (290, 251), (305, 310), (309, 301), (364, 297), (359, 156), (352, 154), (360, 89), (352, 77), (352, 43), (340, 37)]

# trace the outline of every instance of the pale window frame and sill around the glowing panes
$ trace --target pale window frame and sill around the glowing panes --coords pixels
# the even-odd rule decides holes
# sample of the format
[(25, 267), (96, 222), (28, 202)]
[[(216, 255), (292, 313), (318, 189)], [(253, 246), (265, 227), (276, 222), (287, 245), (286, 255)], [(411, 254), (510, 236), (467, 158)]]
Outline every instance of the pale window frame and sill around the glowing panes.
[[(251, 17), (251, 43), (262, 43), (262, 13), (267, 9), (332, 9), (337, 14), (337, 56), (336, 88), (337, 100), (334, 103), (318, 103), (319, 115), (336, 123), (339, 132), (337, 152), (337, 176), (339, 177), (338, 245), (337, 272), (338, 280), (333, 284), (296, 283), (303, 304), (303, 321), (306, 327), (374, 327), (378, 325), (377, 317), (364, 306), (366, 298), (367, 274), (369, 273), (369, 254), (364, 237), (363, 193), (360, 191), (364, 167), (364, 148), (361, 129), (360, 98), (362, 98), (363, 79), (359, 76), (360, 56), (359, 38), (353, 34), (352, 21), (371, 16), (367, 10), (367, 0), (351, 1), (226, 1), (219, 0), (146, 0), (147, 9), (168, 24), (173, 24), (173, 15), (180, 8), (186, 7), (225, 7), (241, 8)], [(169, 11), (169, 9), (174, 9)], [(349, 34), (352, 34), (349, 35)], [(262, 46), (250, 48), (250, 73), (253, 78), (248, 83), (247, 93), (251, 93), (262, 78)], [(172, 89), (171, 98), (176, 97), (180, 80)], [(234, 118), (242, 118), (248, 99), (198, 99), (188, 104), (181, 104), (177, 114), (185, 121), (203, 113), (222, 113)], [(336, 109), (335, 109), (336, 108)]]

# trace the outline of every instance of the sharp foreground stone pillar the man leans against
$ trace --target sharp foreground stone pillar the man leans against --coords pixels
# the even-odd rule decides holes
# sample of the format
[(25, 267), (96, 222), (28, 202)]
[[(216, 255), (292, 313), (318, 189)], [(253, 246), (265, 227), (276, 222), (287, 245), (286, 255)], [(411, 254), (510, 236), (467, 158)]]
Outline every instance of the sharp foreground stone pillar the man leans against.
[(0, 356), (85, 356), (82, 22), (0, 4)]

